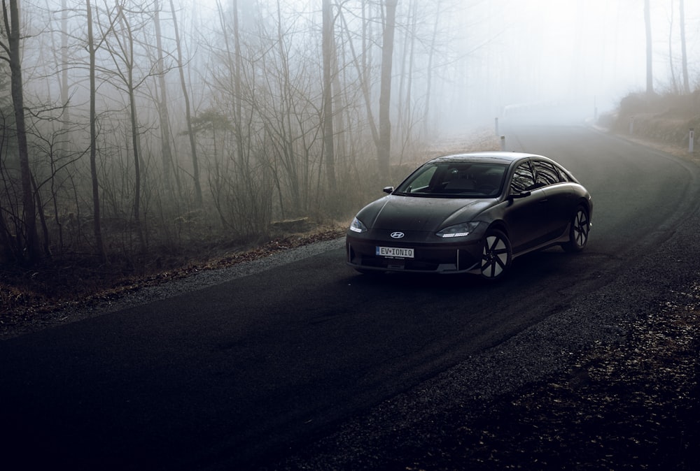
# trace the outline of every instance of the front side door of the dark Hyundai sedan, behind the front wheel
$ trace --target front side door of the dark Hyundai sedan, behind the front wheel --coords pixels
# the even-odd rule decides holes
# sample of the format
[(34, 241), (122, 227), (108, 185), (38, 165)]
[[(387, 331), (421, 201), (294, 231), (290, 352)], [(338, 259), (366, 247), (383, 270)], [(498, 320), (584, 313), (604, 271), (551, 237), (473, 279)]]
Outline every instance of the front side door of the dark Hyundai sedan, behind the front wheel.
[(529, 161), (515, 168), (509, 191), (506, 222), (510, 243), (514, 253), (523, 252), (547, 240), (547, 194), (538, 188)]

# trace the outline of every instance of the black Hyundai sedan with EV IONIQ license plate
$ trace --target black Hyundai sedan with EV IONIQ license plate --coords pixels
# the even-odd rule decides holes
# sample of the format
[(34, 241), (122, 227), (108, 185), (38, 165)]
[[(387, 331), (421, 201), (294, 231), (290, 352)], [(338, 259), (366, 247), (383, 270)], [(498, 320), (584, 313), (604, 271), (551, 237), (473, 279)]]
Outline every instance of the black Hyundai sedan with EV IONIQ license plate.
[(588, 242), (591, 195), (552, 159), (517, 152), (438, 157), (358, 212), (347, 263), (362, 273), (474, 273), (496, 280), (514, 257)]

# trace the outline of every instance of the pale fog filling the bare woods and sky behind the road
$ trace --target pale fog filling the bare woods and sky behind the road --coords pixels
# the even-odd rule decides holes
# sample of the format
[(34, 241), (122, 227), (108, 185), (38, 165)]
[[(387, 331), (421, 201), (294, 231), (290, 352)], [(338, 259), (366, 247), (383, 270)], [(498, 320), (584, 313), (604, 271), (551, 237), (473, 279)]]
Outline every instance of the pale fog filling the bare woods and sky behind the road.
[[(391, 3), (94, 0), (91, 91), (87, 1), (21, 1), (29, 139), (22, 151), (0, 61), (0, 253), (31, 252), (31, 204), (54, 253), (94, 252), (102, 219), (123, 231), (117, 250), (143, 253), (346, 217), (370, 177), (447, 134), (494, 118), (583, 122), (645, 92), (642, 0), (398, 0), (393, 28)], [(679, 1), (650, 5), (654, 91), (678, 92)], [(686, 1), (690, 90), (699, 26)], [(3, 26), (0, 43), (8, 59)]]

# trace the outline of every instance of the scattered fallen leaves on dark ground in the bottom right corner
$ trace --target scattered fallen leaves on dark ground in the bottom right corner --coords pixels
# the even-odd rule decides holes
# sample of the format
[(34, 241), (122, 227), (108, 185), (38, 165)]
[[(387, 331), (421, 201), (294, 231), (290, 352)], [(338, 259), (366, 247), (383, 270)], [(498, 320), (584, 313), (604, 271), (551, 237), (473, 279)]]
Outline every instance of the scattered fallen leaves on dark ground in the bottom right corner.
[[(551, 382), (445, 424), (405, 470), (700, 469), (700, 297), (667, 305)], [(454, 426), (454, 428), (452, 428)]]

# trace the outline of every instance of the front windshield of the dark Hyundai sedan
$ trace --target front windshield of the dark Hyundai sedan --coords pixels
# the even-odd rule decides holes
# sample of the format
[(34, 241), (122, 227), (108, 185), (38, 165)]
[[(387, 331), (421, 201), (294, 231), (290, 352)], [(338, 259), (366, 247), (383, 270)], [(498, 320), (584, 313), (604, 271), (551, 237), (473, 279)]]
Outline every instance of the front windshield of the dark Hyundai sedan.
[(506, 165), (435, 162), (423, 165), (394, 194), (444, 198), (493, 198), (500, 194)]

